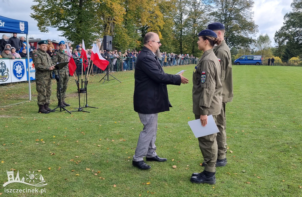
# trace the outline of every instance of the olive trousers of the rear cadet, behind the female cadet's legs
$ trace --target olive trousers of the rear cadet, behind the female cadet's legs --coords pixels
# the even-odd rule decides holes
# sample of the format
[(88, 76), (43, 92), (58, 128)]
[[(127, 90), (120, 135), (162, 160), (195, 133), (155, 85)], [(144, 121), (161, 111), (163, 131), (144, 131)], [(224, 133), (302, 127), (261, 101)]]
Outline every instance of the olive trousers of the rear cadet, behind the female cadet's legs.
[(221, 112), (217, 115), (217, 127), (219, 133), (217, 133), (217, 145), (218, 154), (217, 159), (226, 158), (226, 103), (222, 103)]

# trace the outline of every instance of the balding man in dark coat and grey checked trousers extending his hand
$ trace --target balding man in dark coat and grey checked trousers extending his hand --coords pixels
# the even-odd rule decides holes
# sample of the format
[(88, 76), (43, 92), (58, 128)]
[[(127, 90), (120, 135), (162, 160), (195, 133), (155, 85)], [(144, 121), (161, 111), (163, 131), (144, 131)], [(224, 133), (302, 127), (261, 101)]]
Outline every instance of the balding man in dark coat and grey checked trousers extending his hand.
[(180, 75), (169, 75), (162, 69), (156, 54), (160, 54), (161, 43), (159, 36), (154, 32), (146, 33), (144, 47), (137, 58), (134, 71), (133, 105), (143, 123), (140, 132), (132, 165), (139, 169), (151, 168), (143, 161), (166, 161), (156, 154), (157, 117), (159, 112), (169, 111), (172, 107), (168, 99), (167, 84), (187, 84), (188, 79)]

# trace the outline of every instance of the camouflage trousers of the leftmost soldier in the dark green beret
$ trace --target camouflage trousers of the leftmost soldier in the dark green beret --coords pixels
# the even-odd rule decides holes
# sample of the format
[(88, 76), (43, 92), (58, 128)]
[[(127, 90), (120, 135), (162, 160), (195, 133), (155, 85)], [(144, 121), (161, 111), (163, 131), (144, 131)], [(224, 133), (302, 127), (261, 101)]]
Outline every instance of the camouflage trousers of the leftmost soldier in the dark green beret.
[(36, 79), (36, 90), (38, 92), (38, 105), (50, 103), (51, 79)]

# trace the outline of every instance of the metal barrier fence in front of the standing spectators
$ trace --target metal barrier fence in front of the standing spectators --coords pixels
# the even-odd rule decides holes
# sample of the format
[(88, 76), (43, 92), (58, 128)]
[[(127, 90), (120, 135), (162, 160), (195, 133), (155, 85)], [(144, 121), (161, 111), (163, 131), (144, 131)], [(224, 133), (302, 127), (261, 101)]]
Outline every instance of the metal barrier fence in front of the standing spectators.
[[(90, 59), (88, 59), (89, 62)], [(109, 60), (109, 71), (129, 71), (134, 70), (136, 65), (137, 58), (110, 58)], [(159, 62), (162, 66), (174, 66), (174, 65), (189, 65), (197, 64), (198, 58), (181, 58), (181, 59), (172, 59), (171, 58), (159, 58)], [(100, 68), (95, 65), (92, 65), (90, 62), (90, 67), (92, 66), (92, 73), (99, 74), (104, 73)], [(82, 73), (82, 63), (77, 64), (76, 75)]]

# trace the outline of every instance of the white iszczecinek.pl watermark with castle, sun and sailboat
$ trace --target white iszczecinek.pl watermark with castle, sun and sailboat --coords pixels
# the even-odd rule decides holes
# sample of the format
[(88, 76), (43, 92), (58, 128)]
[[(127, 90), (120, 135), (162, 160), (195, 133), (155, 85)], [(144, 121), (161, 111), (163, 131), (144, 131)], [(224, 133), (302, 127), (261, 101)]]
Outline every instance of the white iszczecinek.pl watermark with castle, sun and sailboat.
[(33, 171), (31, 173), (31, 171), (29, 171), (28, 174), (26, 174), (26, 176), (20, 180), (20, 177), (19, 177), (19, 170), (18, 170), (18, 173), (17, 173), (17, 176), (16, 178), (14, 177), (14, 170), (11, 169), (11, 171), (8, 171), (6, 170), (6, 173), (7, 173), (7, 178), (8, 178), (8, 181), (5, 182), (3, 184), (3, 187), (4, 187), (4, 192), (5, 193), (46, 193), (46, 189), (43, 188), (43, 189), (6, 189), (5, 186), (7, 186), (8, 184), (11, 184), (11, 183), (23, 183), (23, 184), (27, 184), (27, 185), (31, 185), (31, 186), (36, 186), (36, 187), (44, 187), (47, 185), (47, 183), (45, 183), (45, 180), (43, 178), (43, 176), (40, 174), (40, 177), (39, 179), (37, 178), (37, 175), (38, 174), (35, 174), (35, 171)]

